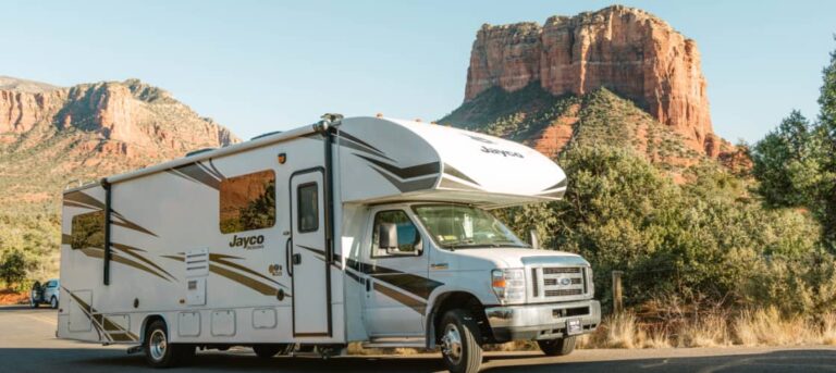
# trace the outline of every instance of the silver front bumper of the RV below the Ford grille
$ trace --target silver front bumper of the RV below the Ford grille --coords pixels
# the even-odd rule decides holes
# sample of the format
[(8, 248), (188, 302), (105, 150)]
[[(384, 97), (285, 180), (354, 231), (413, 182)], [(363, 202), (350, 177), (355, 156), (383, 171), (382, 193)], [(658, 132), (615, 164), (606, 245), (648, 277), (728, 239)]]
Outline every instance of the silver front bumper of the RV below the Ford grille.
[(566, 335), (566, 321), (580, 320), (581, 333), (601, 323), (601, 303), (580, 300), (544, 304), (490, 307), (484, 310), (496, 343), (555, 339)]

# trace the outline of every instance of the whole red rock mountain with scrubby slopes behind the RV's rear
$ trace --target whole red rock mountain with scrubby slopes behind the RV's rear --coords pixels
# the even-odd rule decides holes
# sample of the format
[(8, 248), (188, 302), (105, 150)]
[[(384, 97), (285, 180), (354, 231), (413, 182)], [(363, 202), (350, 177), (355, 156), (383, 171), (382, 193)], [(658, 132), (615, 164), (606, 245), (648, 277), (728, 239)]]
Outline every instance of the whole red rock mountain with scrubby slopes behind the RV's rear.
[(136, 79), (69, 88), (0, 77), (0, 204), (57, 206), (91, 181), (238, 139), (163, 89)]

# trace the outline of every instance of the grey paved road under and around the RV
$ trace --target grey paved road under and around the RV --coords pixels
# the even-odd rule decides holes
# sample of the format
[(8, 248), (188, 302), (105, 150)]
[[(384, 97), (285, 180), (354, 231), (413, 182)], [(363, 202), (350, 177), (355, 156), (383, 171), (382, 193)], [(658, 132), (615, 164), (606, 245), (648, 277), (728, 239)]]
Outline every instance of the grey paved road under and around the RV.
[[(0, 307), (0, 372), (148, 372), (143, 358), (124, 347), (54, 338), (56, 312)], [(438, 355), (260, 360), (247, 350), (201, 352), (175, 372), (438, 372)], [(483, 372), (836, 372), (836, 348), (692, 348), (579, 350), (545, 358), (533, 352), (488, 353)]]

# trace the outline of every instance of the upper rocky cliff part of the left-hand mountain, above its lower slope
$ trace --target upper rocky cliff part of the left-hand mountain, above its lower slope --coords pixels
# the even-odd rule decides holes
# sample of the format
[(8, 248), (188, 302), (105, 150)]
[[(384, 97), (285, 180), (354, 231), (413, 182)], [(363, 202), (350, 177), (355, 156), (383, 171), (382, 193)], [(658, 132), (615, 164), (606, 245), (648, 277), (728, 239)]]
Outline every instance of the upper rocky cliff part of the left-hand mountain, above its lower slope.
[(60, 88), (0, 77), (0, 142), (14, 142), (36, 126), (54, 128), (59, 136), (91, 135), (95, 147), (86, 138), (82, 151), (151, 159), (237, 141), (229, 129), (137, 79)]

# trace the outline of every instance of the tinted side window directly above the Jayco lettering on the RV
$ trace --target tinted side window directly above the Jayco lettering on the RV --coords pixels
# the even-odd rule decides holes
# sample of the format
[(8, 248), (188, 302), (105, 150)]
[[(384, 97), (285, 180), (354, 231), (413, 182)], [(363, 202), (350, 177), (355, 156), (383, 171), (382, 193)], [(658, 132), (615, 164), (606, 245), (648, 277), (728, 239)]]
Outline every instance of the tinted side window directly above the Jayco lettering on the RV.
[(221, 182), (221, 233), (269, 228), (275, 224), (275, 173), (256, 172)]

